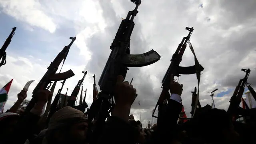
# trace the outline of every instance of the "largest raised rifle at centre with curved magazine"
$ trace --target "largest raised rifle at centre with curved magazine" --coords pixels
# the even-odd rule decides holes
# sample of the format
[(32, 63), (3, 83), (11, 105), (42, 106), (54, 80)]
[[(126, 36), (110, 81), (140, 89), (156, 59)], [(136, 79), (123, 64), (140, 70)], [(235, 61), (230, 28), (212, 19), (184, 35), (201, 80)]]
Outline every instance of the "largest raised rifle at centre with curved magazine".
[[(131, 2), (134, 2), (136, 7), (134, 10), (129, 11), (126, 18), (122, 20), (110, 46), (111, 53), (98, 82), (101, 92), (99, 92), (98, 99), (92, 103), (88, 112), (89, 129), (92, 119), (96, 120), (96, 127), (101, 128), (101, 125), (105, 123), (112, 110), (114, 106), (114, 87), (118, 75), (122, 75), (125, 78), (126, 72), (129, 70), (127, 67), (148, 66), (160, 59), (159, 54), (154, 50), (144, 54), (130, 54), (130, 37), (135, 25), (133, 20), (138, 13), (138, 6), (141, 0), (131, 0)], [(111, 110), (109, 111), (110, 108)], [(96, 131), (94, 133), (97, 133)], [(98, 132), (100, 132), (100, 129)], [(98, 135), (95, 134), (95, 136)]]

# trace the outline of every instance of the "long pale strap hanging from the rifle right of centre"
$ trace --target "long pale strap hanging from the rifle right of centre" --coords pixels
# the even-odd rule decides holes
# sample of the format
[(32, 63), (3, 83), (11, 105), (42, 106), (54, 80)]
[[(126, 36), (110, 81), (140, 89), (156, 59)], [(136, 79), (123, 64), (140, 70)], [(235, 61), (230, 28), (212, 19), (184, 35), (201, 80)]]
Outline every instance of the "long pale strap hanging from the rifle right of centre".
[(194, 60), (195, 60), (195, 66), (196, 66), (196, 78), (197, 78), (197, 84), (198, 84), (198, 90), (197, 90), (197, 95), (196, 95), (196, 103), (195, 103), (195, 107), (194, 107), (194, 113), (192, 115), (192, 118), (194, 117), (194, 114), (196, 113), (196, 109), (198, 106), (198, 102), (199, 102), (199, 85), (200, 85), (200, 76), (201, 76), (201, 72), (200, 72), (200, 64), (196, 58), (196, 54), (194, 52), (194, 48), (192, 46), (192, 44), (190, 43), (190, 40), (188, 41), (189, 44), (189, 48), (192, 51), (193, 55), (194, 55)]

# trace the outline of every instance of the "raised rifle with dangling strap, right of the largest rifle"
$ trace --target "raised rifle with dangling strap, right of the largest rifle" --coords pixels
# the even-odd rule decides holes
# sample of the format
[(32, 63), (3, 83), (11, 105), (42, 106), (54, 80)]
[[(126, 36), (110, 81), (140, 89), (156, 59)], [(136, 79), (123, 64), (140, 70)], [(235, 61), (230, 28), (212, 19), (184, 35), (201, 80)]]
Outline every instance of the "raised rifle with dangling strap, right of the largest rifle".
[[(194, 28), (188, 28), (186, 27), (186, 30), (189, 31), (188, 36), (184, 37), (181, 41), (181, 43), (179, 44), (176, 52), (172, 55), (172, 59), (171, 59), (171, 64), (168, 68), (168, 70), (166, 71), (164, 78), (162, 80), (162, 92), (160, 94), (160, 97), (158, 99), (158, 102), (156, 104), (156, 107), (154, 108), (153, 114), (152, 116), (154, 118), (159, 118), (159, 116), (161, 115), (161, 107), (164, 105), (164, 101), (166, 101), (166, 99), (170, 98), (170, 94), (169, 94), (169, 88), (170, 88), (170, 80), (174, 79), (174, 76), (179, 77), (180, 74), (196, 74), (197, 79), (198, 79), (198, 86), (199, 86), (199, 82), (200, 82), (200, 72), (202, 70), (204, 70), (204, 68), (199, 64), (196, 55), (194, 53), (194, 49), (192, 47), (192, 45), (190, 44), (190, 36), (194, 30)], [(182, 67), (179, 66), (180, 62), (182, 60), (182, 55), (184, 54), (184, 51), (186, 49), (187, 43), (189, 42), (190, 45), (190, 49), (192, 51), (192, 53), (194, 54), (194, 59), (195, 59), (195, 65), (194, 66), (189, 66), (189, 67)], [(199, 92), (199, 87), (198, 87), (198, 92)], [(158, 116), (154, 116), (154, 112), (156, 111), (157, 106), (159, 106), (158, 110)], [(195, 107), (197, 107), (197, 104), (195, 104)]]

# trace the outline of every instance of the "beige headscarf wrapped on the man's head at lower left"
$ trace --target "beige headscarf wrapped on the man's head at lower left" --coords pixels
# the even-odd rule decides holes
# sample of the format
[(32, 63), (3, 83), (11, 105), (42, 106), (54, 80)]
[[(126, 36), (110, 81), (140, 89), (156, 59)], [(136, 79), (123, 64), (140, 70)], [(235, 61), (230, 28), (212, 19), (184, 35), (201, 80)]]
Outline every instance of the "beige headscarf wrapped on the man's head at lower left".
[(76, 110), (71, 106), (66, 106), (55, 112), (50, 118), (48, 130), (54, 130), (70, 126), (79, 122), (86, 122), (87, 117), (80, 110)]

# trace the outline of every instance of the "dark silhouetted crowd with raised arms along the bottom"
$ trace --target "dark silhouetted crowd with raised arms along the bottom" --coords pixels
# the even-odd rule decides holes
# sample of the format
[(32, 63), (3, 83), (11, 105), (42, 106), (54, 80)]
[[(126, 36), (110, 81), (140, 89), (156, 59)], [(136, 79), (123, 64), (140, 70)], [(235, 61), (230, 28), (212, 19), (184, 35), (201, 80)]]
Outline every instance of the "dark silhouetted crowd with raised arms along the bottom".
[[(84, 112), (70, 106), (56, 111), (42, 125), (41, 113), (52, 94), (39, 90), (38, 101), (29, 112), (19, 109), (26, 90), (18, 94), (17, 102), (0, 115), (0, 144), (254, 144), (255, 125), (232, 121), (225, 110), (199, 110), (194, 118), (178, 123), (182, 110), (182, 85), (170, 82), (171, 96), (163, 118), (151, 127), (142, 128), (140, 121), (130, 115), (136, 89), (118, 76), (115, 106), (102, 126), (94, 133), (95, 120), (88, 128)], [(186, 86), (186, 85), (185, 85)]]

